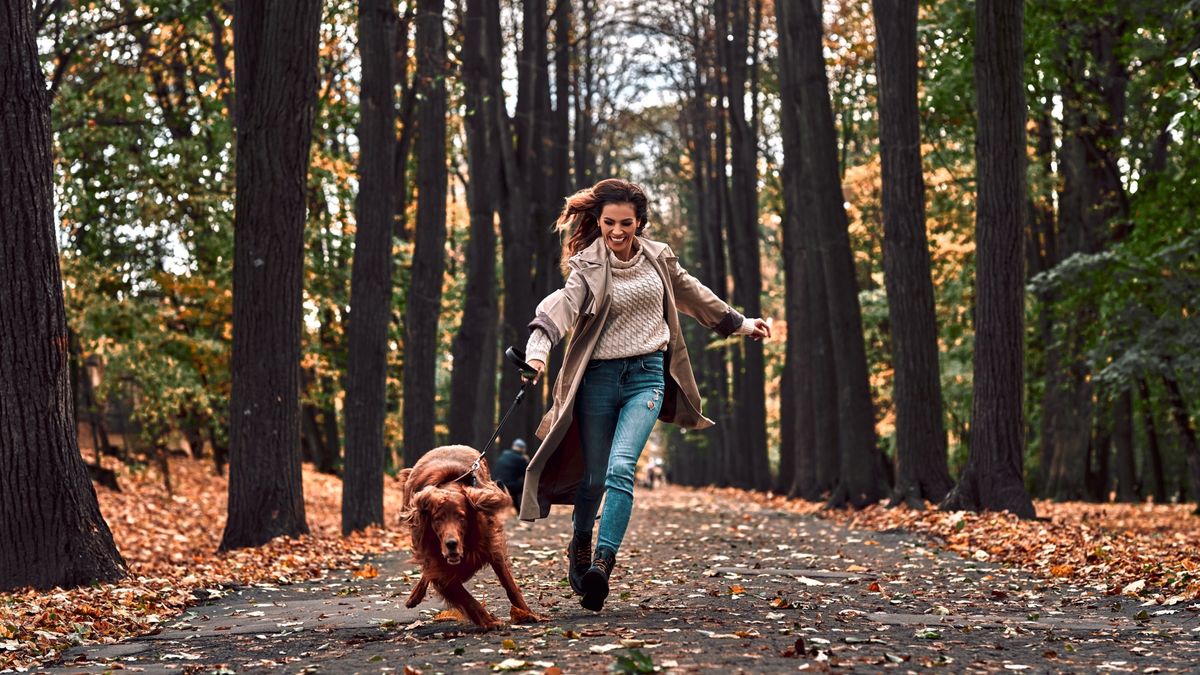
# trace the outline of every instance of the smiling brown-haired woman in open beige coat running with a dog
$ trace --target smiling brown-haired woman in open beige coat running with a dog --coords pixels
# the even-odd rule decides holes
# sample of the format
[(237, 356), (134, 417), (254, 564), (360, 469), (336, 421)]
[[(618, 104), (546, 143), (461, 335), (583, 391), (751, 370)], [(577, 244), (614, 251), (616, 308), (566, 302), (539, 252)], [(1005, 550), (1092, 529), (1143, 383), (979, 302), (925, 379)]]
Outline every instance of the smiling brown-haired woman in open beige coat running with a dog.
[(744, 318), (684, 271), (670, 246), (641, 237), (647, 210), (642, 189), (618, 179), (566, 199), (558, 217), (559, 231), (570, 229), (566, 283), (538, 305), (526, 346), (540, 377), (550, 350), (571, 334), (554, 404), (538, 429), (542, 444), (526, 473), (521, 518), (545, 518), (551, 503), (575, 504), (569, 578), (593, 611), (608, 596), (634, 504), (634, 471), (654, 420), (713, 425), (700, 412), (678, 311), (721, 335), (770, 336), (766, 321)]

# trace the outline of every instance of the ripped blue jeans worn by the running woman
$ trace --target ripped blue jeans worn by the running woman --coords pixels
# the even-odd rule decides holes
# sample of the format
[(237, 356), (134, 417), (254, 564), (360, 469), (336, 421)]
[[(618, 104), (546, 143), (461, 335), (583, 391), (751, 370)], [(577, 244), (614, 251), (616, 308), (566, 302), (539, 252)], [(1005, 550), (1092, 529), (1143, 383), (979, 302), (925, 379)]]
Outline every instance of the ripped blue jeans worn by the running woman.
[(575, 494), (575, 532), (592, 538), (600, 497), (604, 514), (596, 549), (620, 548), (634, 508), (634, 472), (662, 405), (662, 352), (588, 362), (575, 418), (586, 470)]

